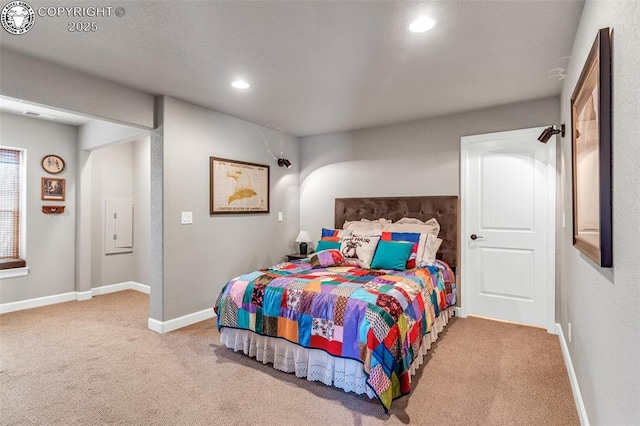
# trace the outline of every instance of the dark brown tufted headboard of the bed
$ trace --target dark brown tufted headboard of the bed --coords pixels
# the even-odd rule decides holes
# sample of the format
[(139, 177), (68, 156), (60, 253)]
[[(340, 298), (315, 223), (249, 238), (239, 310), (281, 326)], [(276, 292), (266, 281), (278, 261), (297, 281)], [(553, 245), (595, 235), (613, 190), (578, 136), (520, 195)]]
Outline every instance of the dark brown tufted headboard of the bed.
[(347, 220), (385, 218), (393, 222), (403, 217), (426, 221), (435, 217), (443, 239), (438, 258), (458, 266), (458, 196), (336, 198), (335, 227)]

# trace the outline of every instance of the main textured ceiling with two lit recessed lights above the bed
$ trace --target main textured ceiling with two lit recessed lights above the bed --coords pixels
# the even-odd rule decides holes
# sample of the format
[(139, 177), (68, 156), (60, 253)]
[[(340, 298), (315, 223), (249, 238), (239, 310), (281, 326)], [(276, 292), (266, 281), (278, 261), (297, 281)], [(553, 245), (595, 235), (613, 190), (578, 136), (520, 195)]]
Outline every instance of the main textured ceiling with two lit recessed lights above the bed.
[[(26, 34), (2, 31), (0, 45), (304, 137), (559, 95), (552, 70), (567, 66), (583, 0), (112, 7), (108, 17), (36, 16)], [(436, 26), (409, 32), (419, 15)], [(68, 31), (70, 21), (91, 20), (95, 32)], [(232, 88), (237, 78), (251, 88)]]

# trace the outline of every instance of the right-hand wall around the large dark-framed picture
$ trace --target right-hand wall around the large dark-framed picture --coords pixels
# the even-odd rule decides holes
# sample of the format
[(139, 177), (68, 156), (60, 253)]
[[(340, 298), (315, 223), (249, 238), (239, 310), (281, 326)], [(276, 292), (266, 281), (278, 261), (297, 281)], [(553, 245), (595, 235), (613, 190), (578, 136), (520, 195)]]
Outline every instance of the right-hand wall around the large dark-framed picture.
[(640, 419), (640, 2), (587, 0), (562, 92), (562, 204), (571, 218), (570, 99), (600, 28), (613, 29), (613, 268), (600, 268), (561, 234), (560, 323), (588, 419), (627, 425)]

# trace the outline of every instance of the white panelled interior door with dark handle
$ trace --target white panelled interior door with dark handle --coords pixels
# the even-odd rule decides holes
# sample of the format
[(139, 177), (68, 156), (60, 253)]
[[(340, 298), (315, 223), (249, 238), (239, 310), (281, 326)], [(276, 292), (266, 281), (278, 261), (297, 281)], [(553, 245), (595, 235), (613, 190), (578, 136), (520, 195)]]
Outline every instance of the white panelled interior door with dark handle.
[(462, 312), (555, 333), (555, 138), (544, 127), (462, 144)]

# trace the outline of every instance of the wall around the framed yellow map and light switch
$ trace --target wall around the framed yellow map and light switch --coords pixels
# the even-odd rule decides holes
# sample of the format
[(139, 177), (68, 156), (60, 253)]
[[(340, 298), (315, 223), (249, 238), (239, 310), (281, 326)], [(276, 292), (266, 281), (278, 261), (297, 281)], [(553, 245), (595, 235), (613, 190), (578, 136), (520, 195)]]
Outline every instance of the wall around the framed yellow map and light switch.
[[(299, 230), (299, 155), (293, 136), (170, 97), (163, 100), (164, 267), (162, 287), (152, 284), (151, 317), (167, 321), (211, 308), (230, 279), (278, 263), (294, 250)], [(279, 152), (283, 139), (292, 168), (275, 164), (260, 132), (273, 151)], [(152, 175), (154, 152), (152, 147)], [(211, 156), (269, 165), (270, 213), (210, 216)], [(182, 211), (193, 212), (192, 225), (180, 224)], [(283, 222), (278, 222), (279, 211), (284, 213)], [(162, 291), (161, 313), (154, 306), (157, 291)]]

